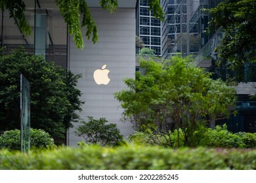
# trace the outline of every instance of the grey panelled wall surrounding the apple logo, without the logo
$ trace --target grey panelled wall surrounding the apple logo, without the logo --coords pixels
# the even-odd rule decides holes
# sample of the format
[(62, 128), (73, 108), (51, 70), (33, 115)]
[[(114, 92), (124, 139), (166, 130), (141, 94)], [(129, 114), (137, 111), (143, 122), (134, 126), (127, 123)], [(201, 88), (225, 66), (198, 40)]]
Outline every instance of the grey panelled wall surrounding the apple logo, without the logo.
[[(121, 133), (127, 137), (133, 132), (130, 122), (120, 122), (123, 109), (114, 99), (114, 93), (125, 88), (123, 78), (135, 76), (135, 8), (119, 8), (113, 14), (102, 8), (91, 8), (91, 13), (98, 28), (98, 42), (93, 44), (85, 40), (85, 48), (79, 50), (70, 38), (70, 70), (82, 74), (77, 88), (85, 101), (82, 119), (86, 116), (106, 118), (117, 124)], [(108, 85), (96, 84), (93, 73), (106, 64), (110, 82)], [(68, 145), (75, 146), (82, 139), (74, 134), (74, 128), (68, 131)]]

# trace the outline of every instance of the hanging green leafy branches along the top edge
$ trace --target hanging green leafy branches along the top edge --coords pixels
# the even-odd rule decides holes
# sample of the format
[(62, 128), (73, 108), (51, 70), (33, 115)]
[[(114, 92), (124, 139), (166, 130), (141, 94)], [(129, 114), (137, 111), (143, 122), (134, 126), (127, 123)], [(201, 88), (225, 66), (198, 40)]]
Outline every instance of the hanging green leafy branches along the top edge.
[[(98, 40), (97, 29), (91, 12), (85, 0), (55, 0), (60, 14), (68, 24), (68, 33), (74, 35), (74, 41), (77, 48), (83, 48), (83, 36), (81, 27), (86, 27), (85, 37), (95, 43)], [(105, 10), (110, 9), (114, 12), (117, 9), (118, 0), (99, 0), (100, 6)], [(149, 10), (154, 10), (154, 16), (163, 20), (165, 14), (159, 0), (148, 0)], [(24, 15), (26, 5), (22, 0), (3, 0), (0, 3), (1, 10), (9, 10), (10, 18), (14, 18), (21, 31), (30, 34), (31, 27)], [(81, 17), (81, 21), (80, 21)]]

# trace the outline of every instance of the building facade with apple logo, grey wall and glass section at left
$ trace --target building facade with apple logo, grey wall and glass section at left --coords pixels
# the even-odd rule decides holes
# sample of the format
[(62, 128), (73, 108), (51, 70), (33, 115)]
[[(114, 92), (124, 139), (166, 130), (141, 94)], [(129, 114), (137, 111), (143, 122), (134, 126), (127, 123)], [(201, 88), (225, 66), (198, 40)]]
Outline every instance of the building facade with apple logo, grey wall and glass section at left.
[[(98, 29), (98, 42), (85, 40), (85, 48), (75, 47), (68, 27), (64, 22), (54, 0), (24, 0), (26, 18), (32, 33), (22, 33), (9, 12), (0, 14), (1, 46), (7, 52), (21, 46), (26, 52), (43, 55), (47, 61), (54, 61), (75, 75), (81, 74), (77, 88), (83, 93), (85, 101), (82, 120), (87, 116), (106, 118), (117, 124), (122, 135), (127, 137), (133, 132), (130, 122), (121, 122), (123, 109), (114, 99), (114, 93), (126, 88), (123, 79), (135, 76), (135, 35), (137, 0), (119, 0), (116, 12), (110, 14), (103, 10), (99, 1), (87, 0)], [(85, 29), (82, 30), (85, 35)], [(95, 72), (96, 71), (96, 72)], [(105, 80), (102, 81), (104, 77)], [(107, 81), (107, 82), (106, 82)], [(77, 146), (83, 140), (74, 133), (77, 123), (68, 130), (67, 144)]]

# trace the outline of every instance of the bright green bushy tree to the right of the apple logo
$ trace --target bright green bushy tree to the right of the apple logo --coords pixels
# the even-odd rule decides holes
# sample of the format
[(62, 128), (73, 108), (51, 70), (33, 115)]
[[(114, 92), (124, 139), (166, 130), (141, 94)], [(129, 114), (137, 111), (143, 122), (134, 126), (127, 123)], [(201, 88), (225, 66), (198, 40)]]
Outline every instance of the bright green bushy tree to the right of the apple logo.
[(123, 118), (135, 129), (168, 133), (181, 128), (185, 145), (190, 145), (194, 131), (232, 113), (234, 88), (211, 79), (192, 59), (141, 59), (140, 67), (143, 74), (138, 71), (135, 79), (125, 79), (128, 89), (115, 93), (124, 108)]

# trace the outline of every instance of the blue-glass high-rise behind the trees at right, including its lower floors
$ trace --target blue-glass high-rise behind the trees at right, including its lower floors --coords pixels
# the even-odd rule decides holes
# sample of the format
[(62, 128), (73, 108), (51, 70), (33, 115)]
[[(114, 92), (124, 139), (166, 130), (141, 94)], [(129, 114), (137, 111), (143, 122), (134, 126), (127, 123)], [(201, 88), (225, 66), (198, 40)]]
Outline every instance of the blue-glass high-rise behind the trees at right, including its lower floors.
[[(232, 75), (228, 67), (224, 65), (219, 68), (215, 64), (218, 59), (215, 48), (221, 43), (224, 32), (220, 27), (214, 33), (205, 33), (210, 15), (203, 10), (203, 8), (216, 7), (221, 1), (169, 1), (169, 55), (172, 56), (177, 52), (182, 56), (194, 55), (196, 65), (213, 73), (213, 78), (226, 80), (228, 75)], [(228, 120), (217, 121), (216, 124), (226, 123), (228, 129), (235, 132), (256, 131), (256, 103), (250, 99), (256, 92), (255, 82), (255, 78), (248, 78), (247, 83), (239, 82), (236, 86), (238, 114), (231, 116)]]

